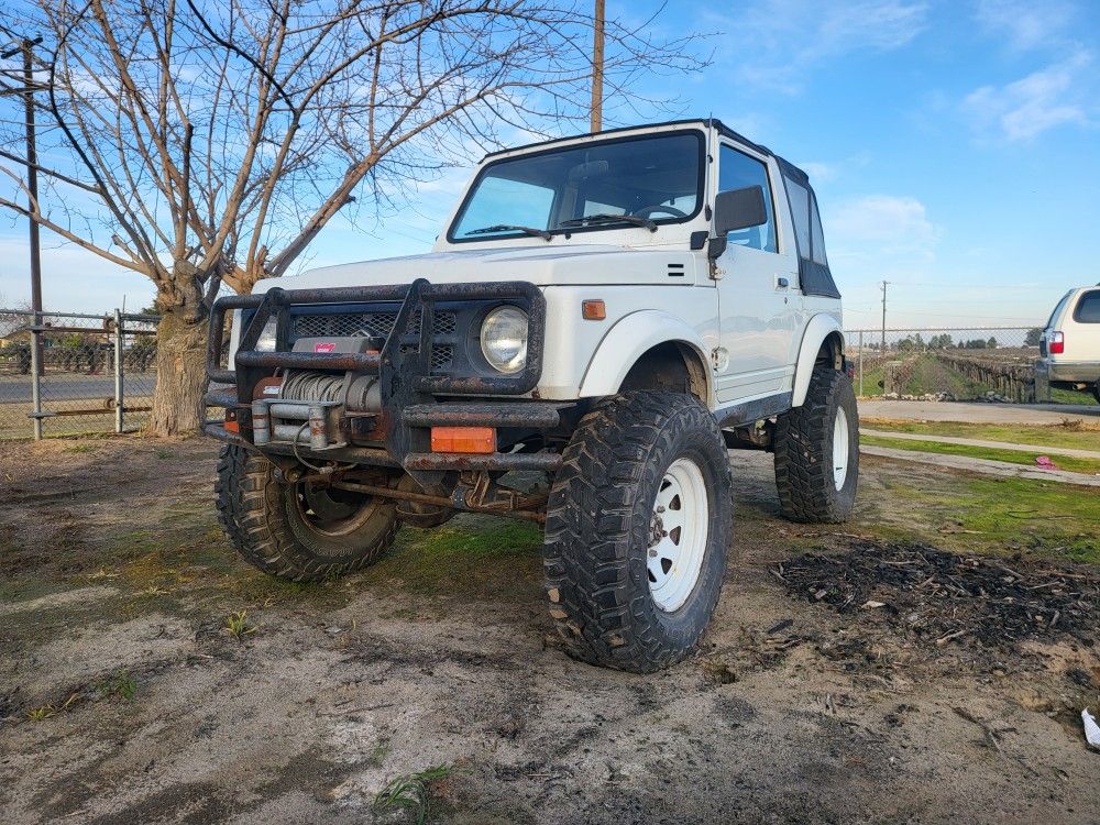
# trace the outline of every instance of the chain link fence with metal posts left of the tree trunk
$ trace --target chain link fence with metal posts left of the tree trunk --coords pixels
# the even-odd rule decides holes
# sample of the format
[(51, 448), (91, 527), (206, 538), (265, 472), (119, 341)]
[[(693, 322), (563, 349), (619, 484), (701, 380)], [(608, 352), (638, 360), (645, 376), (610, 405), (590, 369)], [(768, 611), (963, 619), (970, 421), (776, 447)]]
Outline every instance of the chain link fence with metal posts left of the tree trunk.
[(157, 320), (0, 309), (0, 440), (141, 429)]

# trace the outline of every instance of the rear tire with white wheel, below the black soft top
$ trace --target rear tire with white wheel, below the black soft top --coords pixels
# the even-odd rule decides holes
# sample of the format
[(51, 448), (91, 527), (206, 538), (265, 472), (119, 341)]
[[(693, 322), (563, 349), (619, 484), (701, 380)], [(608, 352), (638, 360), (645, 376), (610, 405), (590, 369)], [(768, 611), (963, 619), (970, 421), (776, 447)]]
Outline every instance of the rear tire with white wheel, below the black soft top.
[(859, 413), (846, 373), (814, 370), (805, 403), (779, 417), (774, 444), (783, 516), (836, 524), (851, 515), (859, 479)]

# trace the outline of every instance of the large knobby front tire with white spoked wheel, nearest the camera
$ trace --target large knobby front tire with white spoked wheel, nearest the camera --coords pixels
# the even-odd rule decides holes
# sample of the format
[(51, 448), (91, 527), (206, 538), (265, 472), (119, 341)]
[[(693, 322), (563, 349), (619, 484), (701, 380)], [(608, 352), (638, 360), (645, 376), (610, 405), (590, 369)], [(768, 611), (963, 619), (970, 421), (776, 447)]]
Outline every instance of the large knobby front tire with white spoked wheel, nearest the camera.
[(646, 673), (698, 641), (733, 534), (725, 442), (693, 396), (638, 392), (582, 419), (550, 491), (550, 615), (570, 652)]

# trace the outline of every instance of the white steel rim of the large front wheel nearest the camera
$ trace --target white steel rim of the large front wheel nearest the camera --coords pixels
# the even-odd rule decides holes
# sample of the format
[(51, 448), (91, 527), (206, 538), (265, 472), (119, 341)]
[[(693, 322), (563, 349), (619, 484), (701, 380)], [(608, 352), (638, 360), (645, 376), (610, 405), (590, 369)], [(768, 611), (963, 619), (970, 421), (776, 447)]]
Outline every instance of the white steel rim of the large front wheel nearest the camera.
[(703, 472), (691, 459), (676, 459), (664, 471), (650, 522), (649, 592), (661, 610), (679, 609), (695, 590), (708, 525)]

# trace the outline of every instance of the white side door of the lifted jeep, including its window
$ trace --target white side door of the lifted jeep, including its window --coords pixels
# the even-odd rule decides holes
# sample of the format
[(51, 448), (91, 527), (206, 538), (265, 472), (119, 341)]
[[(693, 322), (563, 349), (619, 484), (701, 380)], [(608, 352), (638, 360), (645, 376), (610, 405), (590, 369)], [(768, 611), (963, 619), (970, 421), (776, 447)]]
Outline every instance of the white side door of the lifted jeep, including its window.
[[(777, 178), (779, 179), (779, 178)], [(717, 374), (719, 403), (790, 391), (802, 300), (798, 258), (780, 254), (776, 189), (768, 162), (723, 142), (717, 191), (760, 186), (768, 220), (729, 232), (717, 258), (721, 346), (725, 367)], [(779, 189), (780, 198), (783, 190)], [(785, 205), (785, 198), (779, 200)], [(785, 206), (781, 208), (783, 213)]]

